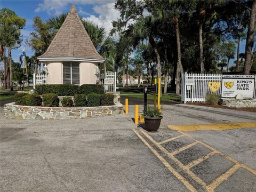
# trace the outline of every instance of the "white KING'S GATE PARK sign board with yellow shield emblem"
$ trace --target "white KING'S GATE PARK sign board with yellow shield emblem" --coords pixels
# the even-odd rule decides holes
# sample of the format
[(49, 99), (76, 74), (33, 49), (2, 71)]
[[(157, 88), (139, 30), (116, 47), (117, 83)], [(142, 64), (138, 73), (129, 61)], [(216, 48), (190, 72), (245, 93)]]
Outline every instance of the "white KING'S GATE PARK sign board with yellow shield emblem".
[(238, 93), (243, 98), (254, 98), (255, 75), (222, 75), (221, 97), (235, 98)]

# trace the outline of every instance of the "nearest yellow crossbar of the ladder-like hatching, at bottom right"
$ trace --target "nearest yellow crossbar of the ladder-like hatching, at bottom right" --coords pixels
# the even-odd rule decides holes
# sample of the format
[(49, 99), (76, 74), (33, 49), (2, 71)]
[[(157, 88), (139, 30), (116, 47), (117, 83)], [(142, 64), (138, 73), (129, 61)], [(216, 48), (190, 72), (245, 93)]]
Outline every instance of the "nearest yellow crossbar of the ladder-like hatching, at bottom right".
[(241, 166), (236, 164), (227, 172), (223, 173), (220, 177), (215, 179), (210, 185), (208, 185), (207, 191), (214, 191), (216, 187), (218, 187), (223, 181), (227, 180), (232, 174), (234, 174)]

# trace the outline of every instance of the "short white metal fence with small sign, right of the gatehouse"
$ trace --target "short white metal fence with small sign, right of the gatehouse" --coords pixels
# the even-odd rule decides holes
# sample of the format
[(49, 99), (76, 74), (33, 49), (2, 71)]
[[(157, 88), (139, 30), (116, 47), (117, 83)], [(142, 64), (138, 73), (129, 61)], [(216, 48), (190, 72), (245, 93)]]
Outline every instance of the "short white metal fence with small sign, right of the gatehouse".
[(105, 92), (116, 92), (116, 72), (107, 71), (105, 78), (100, 78), (100, 84), (104, 86)]

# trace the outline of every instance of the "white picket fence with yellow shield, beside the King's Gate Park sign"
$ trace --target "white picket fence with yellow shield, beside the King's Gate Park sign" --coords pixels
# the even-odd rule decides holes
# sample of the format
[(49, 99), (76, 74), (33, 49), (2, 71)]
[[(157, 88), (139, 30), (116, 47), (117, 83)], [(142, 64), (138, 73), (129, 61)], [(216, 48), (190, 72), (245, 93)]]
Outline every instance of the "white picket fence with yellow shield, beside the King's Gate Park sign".
[(182, 102), (204, 102), (206, 93), (221, 95), (221, 74), (182, 75)]

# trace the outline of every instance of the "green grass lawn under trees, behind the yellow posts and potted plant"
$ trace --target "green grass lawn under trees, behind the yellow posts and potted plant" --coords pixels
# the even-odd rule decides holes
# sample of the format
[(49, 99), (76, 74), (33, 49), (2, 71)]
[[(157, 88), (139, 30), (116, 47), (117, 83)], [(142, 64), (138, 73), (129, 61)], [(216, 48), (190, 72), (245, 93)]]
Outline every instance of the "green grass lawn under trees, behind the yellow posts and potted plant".
[[(144, 95), (141, 92), (133, 92), (133, 91), (123, 92), (123, 91), (121, 91), (120, 94), (127, 95), (129, 97), (134, 97), (134, 98), (141, 98), (141, 99), (144, 98)], [(154, 95), (148, 94), (147, 97), (149, 100), (154, 100)], [(173, 102), (173, 101), (180, 102), (180, 96), (171, 95), (171, 94), (162, 94), (161, 100), (162, 101), (170, 101), (170, 102)]]

